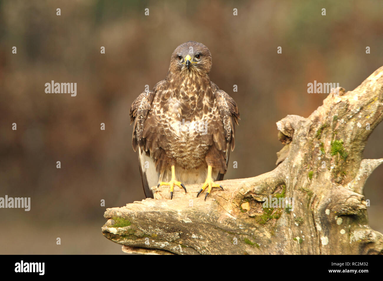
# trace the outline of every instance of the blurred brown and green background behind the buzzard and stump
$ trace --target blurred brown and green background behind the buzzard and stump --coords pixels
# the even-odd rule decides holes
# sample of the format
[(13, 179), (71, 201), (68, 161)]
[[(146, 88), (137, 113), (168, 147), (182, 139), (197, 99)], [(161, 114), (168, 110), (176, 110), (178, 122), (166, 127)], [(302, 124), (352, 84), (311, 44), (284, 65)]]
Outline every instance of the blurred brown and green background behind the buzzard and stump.
[[(0, 253), (122, 253), (101, 226), (106, 207), (144, 198), (129, 107), (179, 44), (210, 49), (211, 80), (241, 112), (225, 178), (252, 177), (275, 168), (275, 122), (327, 96), (307, 83), (352, 90), (383, 65), (382, 12), (382, 1), (0, 1), (0, 197), (31, 197), (29, 212), (0, 209)], [(46, 94), (51, 80), (76, 82), (77, 96)], [(366, 158), (383, 157), (382, 140), (380, 124)], [(380, 232), (382, 182), (383, 166), (365, 186)]]

